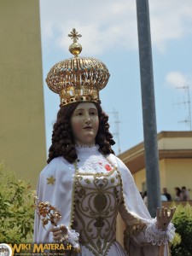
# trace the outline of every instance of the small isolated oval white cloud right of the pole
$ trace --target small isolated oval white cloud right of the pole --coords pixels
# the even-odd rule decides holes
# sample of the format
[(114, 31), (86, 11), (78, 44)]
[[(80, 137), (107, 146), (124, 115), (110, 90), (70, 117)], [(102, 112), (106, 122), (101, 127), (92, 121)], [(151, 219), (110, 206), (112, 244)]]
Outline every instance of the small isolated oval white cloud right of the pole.
[(169, 84), (175, 88), (181, 88), (189, 85), (189, 78), (180, 72), (170, 72), (166, 75), (166, 84)]

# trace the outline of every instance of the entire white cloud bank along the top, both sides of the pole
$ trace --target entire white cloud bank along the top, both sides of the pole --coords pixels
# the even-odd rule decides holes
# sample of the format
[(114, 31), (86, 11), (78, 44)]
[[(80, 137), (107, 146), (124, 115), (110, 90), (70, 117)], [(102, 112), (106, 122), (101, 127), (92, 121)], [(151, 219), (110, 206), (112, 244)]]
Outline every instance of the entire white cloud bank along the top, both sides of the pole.
[[(83, 35), (83, 55), (116, 47), (137, 49), (136, 1), (40, 0), (40, 7), (43, 37), (65, 51), (71, 41), (67, 34), (73, 27)], [(149, 8), (152, 44), (157, 49), (165, 50), (168, 41), (192, 33), (191, 0), (153, 0)]]

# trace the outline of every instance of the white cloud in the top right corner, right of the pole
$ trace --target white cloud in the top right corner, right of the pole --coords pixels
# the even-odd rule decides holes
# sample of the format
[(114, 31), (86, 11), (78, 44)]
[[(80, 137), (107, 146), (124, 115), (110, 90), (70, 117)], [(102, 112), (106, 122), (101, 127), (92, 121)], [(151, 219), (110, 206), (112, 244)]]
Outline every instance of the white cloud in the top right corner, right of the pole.
[(151, 1), (151, 33), (153, 44), (165, 50), (169, 40), (183, 38), (192, 32), (192, 2), (179, 0)]

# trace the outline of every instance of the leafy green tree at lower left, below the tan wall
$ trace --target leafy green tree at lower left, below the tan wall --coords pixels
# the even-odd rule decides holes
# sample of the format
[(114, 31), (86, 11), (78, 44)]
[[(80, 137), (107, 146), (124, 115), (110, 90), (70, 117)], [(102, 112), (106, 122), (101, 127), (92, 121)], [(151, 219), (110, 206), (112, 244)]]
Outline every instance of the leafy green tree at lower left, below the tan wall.
[(29, 183), (0, 164), (0, 242), (32, 242), (33, 192)]

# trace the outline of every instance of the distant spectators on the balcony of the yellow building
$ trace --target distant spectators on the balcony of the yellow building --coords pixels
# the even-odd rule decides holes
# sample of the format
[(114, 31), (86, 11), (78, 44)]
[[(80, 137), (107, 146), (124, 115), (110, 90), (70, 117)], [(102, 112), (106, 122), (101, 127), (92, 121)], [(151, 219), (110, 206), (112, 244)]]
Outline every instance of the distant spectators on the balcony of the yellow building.
[[(148, 193), (145, 191), (144, 193), (140, 193), (143, 197), (143, 201), (145, 204), (148, 204)], [(179, 187), (175, 187), (175, 198), (172, 199), (172, 195), (168, 193), (166, 188), (163, 188), (162, 194), (160, 195), (161, 201), (189, 201), (189, 190), (183, 186), (181, 189)]]

